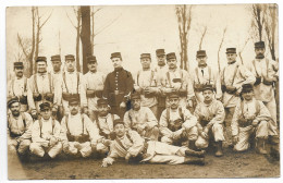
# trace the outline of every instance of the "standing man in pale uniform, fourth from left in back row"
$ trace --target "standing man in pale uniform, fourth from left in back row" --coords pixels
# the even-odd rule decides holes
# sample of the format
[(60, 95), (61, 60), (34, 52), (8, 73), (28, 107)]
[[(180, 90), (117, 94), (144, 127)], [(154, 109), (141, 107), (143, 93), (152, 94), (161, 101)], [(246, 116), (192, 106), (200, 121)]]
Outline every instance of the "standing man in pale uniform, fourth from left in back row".
[[(63, 86), (62, 86), (62, 102), (64, 108), (64, 114), (67, 114), (69, 111), (69, 99), (79, 95), (81, 103), (81, 82), (82, 74), (75, 70), (75, 57), (73, 54), (65, 56), (65, 65), (66, 71), (63, 73)], [(87, 111), (84, 111), (87, 113)]]

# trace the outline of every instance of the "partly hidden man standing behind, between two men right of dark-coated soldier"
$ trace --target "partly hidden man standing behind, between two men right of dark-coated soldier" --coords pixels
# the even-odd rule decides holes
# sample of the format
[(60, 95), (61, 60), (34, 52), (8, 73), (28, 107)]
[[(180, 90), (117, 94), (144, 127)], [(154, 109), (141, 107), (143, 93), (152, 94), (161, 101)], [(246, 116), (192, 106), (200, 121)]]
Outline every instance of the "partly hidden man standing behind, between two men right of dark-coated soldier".
[[(157, 78), (157, 85), (159, 87), (165, 86), (164, 81), (165, 81), (165, 73), (168, 72), (168, 65), (165, 64), (165, 51), (164, 49), (157, 49), (156, 50), (156, 56), (158, 60), (158, 66), (155, 69), (156, 72), (156, 78)], [(165, 109), (165, 103), (167, 103), (167, 97), (163, 93), (159, 93), (157, 96), (158, 99), (158, 114), (157, 119), (160, 119), (161, 113)]]

